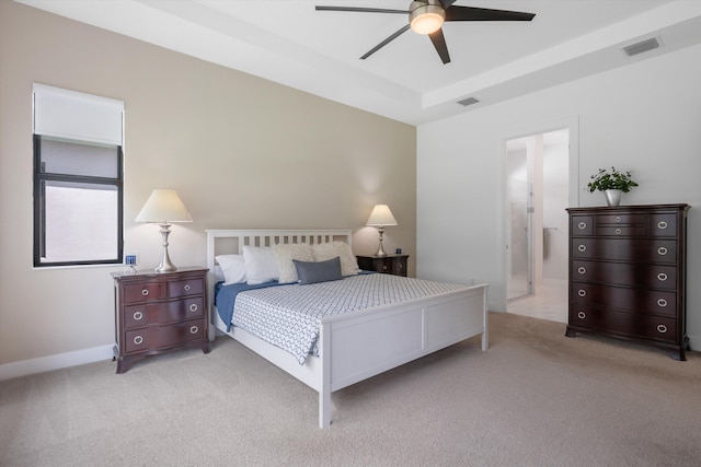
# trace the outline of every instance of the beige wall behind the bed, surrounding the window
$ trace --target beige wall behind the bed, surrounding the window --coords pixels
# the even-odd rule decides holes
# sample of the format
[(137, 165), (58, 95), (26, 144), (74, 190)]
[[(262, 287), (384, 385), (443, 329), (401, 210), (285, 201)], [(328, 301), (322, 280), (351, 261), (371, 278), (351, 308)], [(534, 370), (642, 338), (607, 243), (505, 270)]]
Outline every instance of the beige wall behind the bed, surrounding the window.
[(114, 341), (122, 268), (32, 268), (33, 82), (125, 102), (125, 253), (143, 268), (160, 235), (133, 220), (153, 188), (194, 218), (173, 227), (176, 265), (205, 264), (205, 229), (353, 229), (372, 253), (378, 202), (399, 222), (386, 247), (414, 255), (414, 127), (0, 0), (0, 364)]

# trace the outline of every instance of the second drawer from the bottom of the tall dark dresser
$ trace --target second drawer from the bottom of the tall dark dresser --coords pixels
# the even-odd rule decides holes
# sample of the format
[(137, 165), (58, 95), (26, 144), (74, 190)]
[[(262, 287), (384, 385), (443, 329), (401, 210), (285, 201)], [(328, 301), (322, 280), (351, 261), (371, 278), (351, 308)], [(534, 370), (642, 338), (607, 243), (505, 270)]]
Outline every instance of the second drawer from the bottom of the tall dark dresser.
[(600, 306), (607, 310), (629, 310), (636, 313), (676, 316), (677, 293), (641, 290), (587, 282), (571, 283), (572, 304)]

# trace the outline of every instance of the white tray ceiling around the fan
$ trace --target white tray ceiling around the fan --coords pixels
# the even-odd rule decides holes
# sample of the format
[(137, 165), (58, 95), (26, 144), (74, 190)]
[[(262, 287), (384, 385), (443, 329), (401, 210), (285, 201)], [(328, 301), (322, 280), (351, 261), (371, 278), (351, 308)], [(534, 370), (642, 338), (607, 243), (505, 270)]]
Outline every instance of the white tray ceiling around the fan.
[[(495, 104), (701, 44), (701, 0), (458, 0), (535, 13), (532, 22), (451, 22), (443, 65), (401, 14), (410, 0), (15, 0), (411, 125)], [(628, 57), (622, 47), (656, 37)], [(474, 97), (463, 106), (458, 101)]]

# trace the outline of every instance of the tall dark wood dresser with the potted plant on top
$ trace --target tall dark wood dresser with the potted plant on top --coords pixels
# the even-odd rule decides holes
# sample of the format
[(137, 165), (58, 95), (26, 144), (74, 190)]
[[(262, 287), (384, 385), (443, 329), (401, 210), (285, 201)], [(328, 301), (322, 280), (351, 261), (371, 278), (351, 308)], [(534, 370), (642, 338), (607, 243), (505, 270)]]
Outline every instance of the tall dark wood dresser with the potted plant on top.
[(566, 336), (595, 331), (686, 360), (688, 205), (571, 208)]

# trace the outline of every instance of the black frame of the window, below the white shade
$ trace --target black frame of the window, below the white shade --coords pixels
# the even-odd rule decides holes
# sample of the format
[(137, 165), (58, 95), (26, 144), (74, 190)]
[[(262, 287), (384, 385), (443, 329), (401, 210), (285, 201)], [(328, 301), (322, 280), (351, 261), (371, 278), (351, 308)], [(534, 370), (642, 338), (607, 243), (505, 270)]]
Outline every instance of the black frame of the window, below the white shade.
[[(85, 175), (55, 174), (42, 171), (42, 135), (34, 135), (34, 267), (119, 265), (124, 257), (124, 154), (122, 145), (117, 148), (117, 177), (95, 177)], [(90, 141), (74, 141), (91, 144)], [(42, 261), (46, 246), (46, 199), (45, 182), (64, 182), (69, 184), (105, 185), (117, 189), (117, 256), (110, 259)]]

